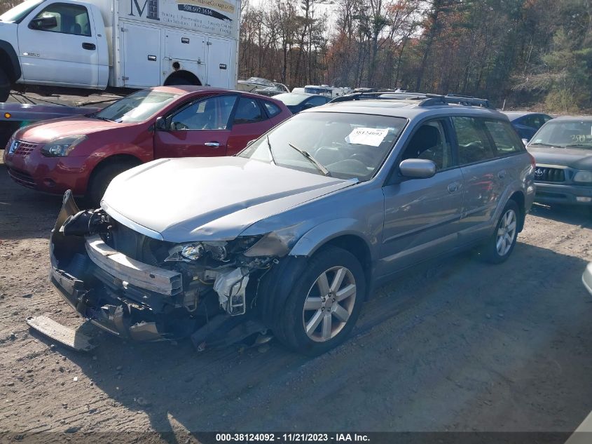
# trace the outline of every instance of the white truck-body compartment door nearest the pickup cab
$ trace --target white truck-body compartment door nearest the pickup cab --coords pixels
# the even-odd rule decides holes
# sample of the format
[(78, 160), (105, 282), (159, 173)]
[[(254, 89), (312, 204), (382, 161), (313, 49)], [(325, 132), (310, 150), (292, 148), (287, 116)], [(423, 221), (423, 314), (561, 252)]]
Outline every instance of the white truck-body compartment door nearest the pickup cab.
[(132, 23), (123, 29), (123, 85), (160, 85), (160, 29)]

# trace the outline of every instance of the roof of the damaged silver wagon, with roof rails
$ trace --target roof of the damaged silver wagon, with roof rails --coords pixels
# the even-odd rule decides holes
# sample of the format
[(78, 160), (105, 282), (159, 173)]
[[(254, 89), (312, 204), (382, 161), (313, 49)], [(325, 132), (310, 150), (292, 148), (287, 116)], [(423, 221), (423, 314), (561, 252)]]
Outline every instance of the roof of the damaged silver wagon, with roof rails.
[(467, 106), (457, 104), (441, 104), (425, 106), (418, 100), (352, 100), (346, 102), (329, 102), (322, 107), (307, 109), (304, 112), (345, 112), (352, 114), (377, 114), (381, 116), (404, 117), (418, 119), (428, 116), (446, 116), (464, 114), (467, 116), (493, 117), (507, 120), (507, 116), (493, 108)]

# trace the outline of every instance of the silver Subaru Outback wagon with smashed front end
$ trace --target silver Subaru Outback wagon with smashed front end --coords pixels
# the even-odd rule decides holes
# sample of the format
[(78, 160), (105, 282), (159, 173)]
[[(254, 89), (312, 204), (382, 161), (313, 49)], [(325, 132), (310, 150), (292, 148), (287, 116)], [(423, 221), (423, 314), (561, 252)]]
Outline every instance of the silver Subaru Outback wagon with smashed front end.
[(272, 330), (320, 354), (396, 272), (472, 247), (507, 260), (535, 194), (507, 117), (486, 100), (361, 98), (301, 112), (237, 156), (132, 168), (96, 210), (67, 193), (51, 280), (121, 337), (202, 350)]

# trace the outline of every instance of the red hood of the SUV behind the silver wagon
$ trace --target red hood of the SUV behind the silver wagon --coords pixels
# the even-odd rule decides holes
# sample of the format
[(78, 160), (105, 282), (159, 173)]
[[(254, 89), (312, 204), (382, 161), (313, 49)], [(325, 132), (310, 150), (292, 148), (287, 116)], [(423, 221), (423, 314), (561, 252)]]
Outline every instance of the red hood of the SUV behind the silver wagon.
[[(42, 143), (50, 142), (50, 140), (57, 137), (90, 134), (109, 128), (123, 128), (125, 125), (126, 123), (90, 119), (88, 117), (65, 117), (25, 126), (25, 128), (18, 130), (15, 137), (27, 142)], [(130, 125), (130, 123), (127, 125)]]

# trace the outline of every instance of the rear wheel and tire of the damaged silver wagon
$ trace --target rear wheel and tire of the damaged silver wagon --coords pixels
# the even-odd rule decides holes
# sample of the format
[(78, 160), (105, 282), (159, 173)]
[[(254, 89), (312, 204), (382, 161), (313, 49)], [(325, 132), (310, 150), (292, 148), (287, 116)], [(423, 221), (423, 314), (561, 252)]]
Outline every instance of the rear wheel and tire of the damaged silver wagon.
[(521, 212), (518, 204), (510, 199), (502, 210), (500, 219), (497, 220), (495, 231), (481, 248), (481, 255), (486, 262), (501, 264), (511, 255), (516, 245), (516, 238), (518, 238), (520, 217)]

